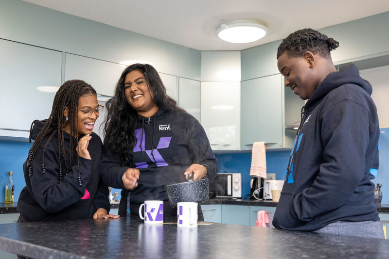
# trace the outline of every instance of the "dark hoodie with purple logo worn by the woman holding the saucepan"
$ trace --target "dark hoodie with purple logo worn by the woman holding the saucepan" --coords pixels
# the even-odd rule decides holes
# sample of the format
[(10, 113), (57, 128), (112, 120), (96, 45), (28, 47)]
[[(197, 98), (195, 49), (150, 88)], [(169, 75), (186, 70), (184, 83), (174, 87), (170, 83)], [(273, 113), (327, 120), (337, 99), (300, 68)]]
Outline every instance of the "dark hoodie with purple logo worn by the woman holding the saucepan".
[[(185, 111), (159, 110), (150, 118), (139, 116), (141, 128), (136, 129), (137, 143), (131, 148), (131, 167), (138, 168), (138, 187), (131, 191), (131, 211), (145, 200), (167, 201), (164, 185), (185, 181), (184, 172), (193, 163), (204, 165), (207, 176), (217, 173), (217, 161), (200, 123)], [(101, 162), (104, 183), (124, 188), (122, 176), (128, 167), (121, 167), (120, 155), (104, 150)], [(126, 215), (126, 197), (122, 191), (119, 214)], [(166, 202), (165, 202), (166, 203)]]

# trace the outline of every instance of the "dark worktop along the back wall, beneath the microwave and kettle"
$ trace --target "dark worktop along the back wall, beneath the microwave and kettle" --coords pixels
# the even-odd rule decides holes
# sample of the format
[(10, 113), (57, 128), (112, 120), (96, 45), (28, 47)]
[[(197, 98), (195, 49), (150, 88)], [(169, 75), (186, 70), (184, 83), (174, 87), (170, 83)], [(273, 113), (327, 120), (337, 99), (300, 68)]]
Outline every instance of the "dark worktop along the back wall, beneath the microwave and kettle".
[[(200, 204), (210, 205), (210, 204), (228, 204), (228, 205), (244, 205), (244, 206), (265, 206), (265, 207), (277, 207), (277, 202), (271, 200), (242, 200), (242, 199), (228, 199), (228, 198), (215, 198), (207, 201), (203, 201)], [(17, 203), (1, 203), (0, 202), (0, 214), (3, 213), (18, 213)], [(119, 203), (111, 204), (111, 209), (119, 208)], [(379, 207), (378, 212), (380, 213), (389, 213), (389, 207)]]

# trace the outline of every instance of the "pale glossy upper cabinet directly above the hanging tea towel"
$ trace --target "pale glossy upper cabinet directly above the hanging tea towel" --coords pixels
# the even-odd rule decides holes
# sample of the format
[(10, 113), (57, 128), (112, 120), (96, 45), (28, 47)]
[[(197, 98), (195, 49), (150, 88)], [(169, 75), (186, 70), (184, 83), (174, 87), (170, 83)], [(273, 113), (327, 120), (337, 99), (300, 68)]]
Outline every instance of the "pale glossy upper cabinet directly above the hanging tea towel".
[(282, 80), (278, 74), (241, 82), (242, 150), (257, 141), (283, 147)]

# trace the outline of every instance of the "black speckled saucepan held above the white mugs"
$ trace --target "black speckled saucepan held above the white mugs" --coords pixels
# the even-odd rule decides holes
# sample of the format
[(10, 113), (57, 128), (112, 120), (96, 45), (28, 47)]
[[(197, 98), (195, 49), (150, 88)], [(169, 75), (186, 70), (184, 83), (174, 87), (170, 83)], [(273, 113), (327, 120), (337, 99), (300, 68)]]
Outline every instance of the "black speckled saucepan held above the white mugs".
[(177, 202), (200, 202), (210, 198), (208, 178), (165, 185), (172, 206)]

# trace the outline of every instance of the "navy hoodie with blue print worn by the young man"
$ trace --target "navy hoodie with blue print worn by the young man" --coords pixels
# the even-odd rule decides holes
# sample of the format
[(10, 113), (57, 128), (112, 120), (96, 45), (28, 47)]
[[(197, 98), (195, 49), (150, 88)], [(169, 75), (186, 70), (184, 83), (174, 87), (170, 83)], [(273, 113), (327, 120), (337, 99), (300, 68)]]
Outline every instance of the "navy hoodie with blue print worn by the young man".
[(379, 220), (371, 179), (380, 133), (371, 92), (351, 65), (330, 73), (308, 99), (275, 227), (311, 231), (336, 221)]

